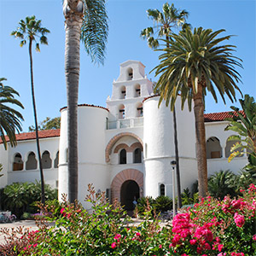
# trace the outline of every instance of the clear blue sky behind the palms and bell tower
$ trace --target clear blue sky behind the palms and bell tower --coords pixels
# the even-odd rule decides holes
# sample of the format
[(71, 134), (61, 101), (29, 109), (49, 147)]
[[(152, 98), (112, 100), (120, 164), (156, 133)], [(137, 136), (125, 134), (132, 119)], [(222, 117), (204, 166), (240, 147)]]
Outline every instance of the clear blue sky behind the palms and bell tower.
[[(19, 40), (9, 34), (16, 29), (20, 19), (36, 15), (42, 25), (50, 30), (49, 45), (41, 46), (41, 52), (33, 51), (34, 84), (38, 109), (38, 120), (47, 116), (60, 115), (60, 108), (67, 106), (64, 76), (65, 30), (61, 0), (0, 0), (0, 77), (8, 79), (8, 84), (20, 92), (20, 102), (25, 110), (23, 131), (33, 125), (32, 99), (27, 45), (19, 46)], [(149, 73), (158, 65), (158, 52), (149, 49), (146, 41), (139, 37), (143, 28), (152, 26), (147, 9), (161, 9), (166, 1), (155, 0), (108, 0), (109, 36), (105, 65), (98, 67), (91, 63), (81, 46), (81, 67), (79, 103), (89, 103), (105, 107), (105, 101), (112, 91), (113, 79), (119, 77), (119, 64), (127, 60), (142, 61), (148, 78), (156, 81), (154, 73)], [(227, 44), (236, 45), (235, 55), (243, 60), (241, 73), (243, 84), (239, 84), (243, 94), (256, 98), (256, 5), (254, 0), (190, 0), (172, 1), (178, 9), (189, 11), (188, 22), (193, 26), (203, 26), (218, 30), (224, 28), (223, 35), (236, 35)], [(237, 99), (241, 96), (237, 94)], [(230, 111), (219, 98), (216, 104), (207, 96), (206, 113)]]

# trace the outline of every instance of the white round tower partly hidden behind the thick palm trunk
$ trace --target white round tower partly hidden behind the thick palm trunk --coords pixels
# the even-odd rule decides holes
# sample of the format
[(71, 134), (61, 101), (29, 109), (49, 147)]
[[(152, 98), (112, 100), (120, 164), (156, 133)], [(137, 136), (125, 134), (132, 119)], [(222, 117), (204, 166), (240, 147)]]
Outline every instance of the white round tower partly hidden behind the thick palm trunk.
[[(79, 201), (84, 203), (88, 183), (96, 191), (109, 187), (107, 165), (105, 163), (105, 130), (108, 109), (90, 105), (79, 105)], [(61, 109), (61, 137), (59, 162), (59, 198), (67, 194), (67, 108)]]

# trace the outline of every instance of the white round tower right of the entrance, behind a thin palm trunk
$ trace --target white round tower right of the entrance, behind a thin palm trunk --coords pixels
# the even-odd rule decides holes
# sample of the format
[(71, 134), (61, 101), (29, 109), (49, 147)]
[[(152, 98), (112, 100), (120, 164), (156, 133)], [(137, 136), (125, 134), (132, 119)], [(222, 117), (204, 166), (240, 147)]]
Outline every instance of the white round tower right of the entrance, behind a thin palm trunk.
[[(172, 166), (175, 160), (173, 115), (166, 102), (158, 107), (160, 96), (143, 102), (144, 109), (144, 163), (145, 195), (172, 196)], [(190, 187), (197, 178), (195, 160), (194, 114), (176, 104), (177, 143), (182, 189)]]

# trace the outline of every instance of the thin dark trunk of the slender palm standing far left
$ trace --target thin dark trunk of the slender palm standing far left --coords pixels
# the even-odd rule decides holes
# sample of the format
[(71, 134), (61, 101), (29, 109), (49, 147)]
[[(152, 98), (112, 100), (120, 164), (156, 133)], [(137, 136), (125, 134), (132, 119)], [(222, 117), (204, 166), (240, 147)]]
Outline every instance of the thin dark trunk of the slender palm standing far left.
[(34, 119), (35, 119), (35, 128), (36, 128), (36, 140), (37, 140), (37, 148), (38, 148), (38, 162), (39, 162), (39, 170), (40, 170), (40, 177), (41, 177), (41, 201), (42, 204), (45, 204), (45, 194), (44, 194), (44, 172), (42, 166), (42, 159), (40, 153), (40, 144), (39, 144), (39, 137), (38, 137), (38, 117), (37, 117), (37, 108), (36, 108), (36, 100), (35, 100), (35, 93), (34, 93), (34, 79), (33, 79), (33, 62), (32, 62), (32, 39), (29, 39), (29, 58), (30, 58), (30, 74), (31, 74), (31, 90), (32, 90), (32, 105), (34, 110)]

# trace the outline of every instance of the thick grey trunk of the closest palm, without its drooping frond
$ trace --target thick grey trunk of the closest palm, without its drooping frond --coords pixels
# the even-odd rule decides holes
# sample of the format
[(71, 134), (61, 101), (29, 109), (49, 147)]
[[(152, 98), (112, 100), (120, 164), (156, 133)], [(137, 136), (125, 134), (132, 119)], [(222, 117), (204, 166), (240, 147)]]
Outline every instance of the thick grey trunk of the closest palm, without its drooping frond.
[[(71, 1), (72, 2), (72, 1)], [(65, 3), (65, 2), (64, 2)], [(68, 200), (78, 199), (78, 98), (80, 73), (80, 35), (82, 15), (63, 3), (66, 18), (65, 75), (67, 84)]]

